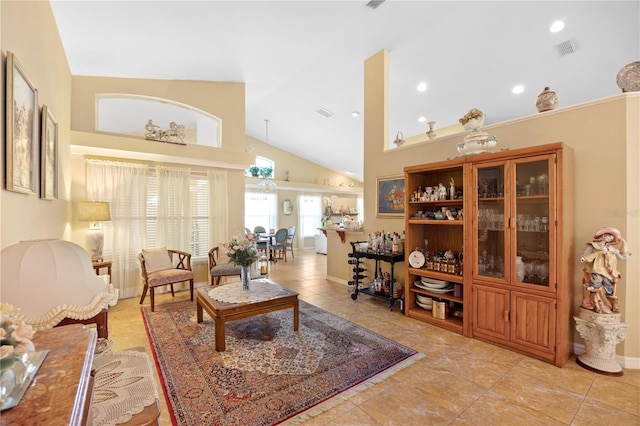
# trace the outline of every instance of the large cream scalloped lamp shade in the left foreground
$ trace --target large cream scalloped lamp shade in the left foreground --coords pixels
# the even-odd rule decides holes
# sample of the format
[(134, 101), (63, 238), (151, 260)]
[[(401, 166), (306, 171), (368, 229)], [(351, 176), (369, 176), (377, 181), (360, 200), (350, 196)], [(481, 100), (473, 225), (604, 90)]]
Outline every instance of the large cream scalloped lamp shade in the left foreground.
[(89, 319), (118, 302), (118, 290), (96, 275), (88, 253), (64, 240), (21, 241), (2, 250), (2, 302), (36, 329), (64, 318)]

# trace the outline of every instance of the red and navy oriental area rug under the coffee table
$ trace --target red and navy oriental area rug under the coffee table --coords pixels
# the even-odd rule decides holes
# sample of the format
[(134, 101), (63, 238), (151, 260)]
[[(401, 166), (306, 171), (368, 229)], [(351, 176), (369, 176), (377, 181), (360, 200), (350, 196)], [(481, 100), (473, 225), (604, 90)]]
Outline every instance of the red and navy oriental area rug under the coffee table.
[(224, 352), (207, 313), (196, 322), (195, 302), (141, 308), (174, 424), (302, 422), (422, 357), (299, 303), (297, 332), (292, 309), (230, 321)]

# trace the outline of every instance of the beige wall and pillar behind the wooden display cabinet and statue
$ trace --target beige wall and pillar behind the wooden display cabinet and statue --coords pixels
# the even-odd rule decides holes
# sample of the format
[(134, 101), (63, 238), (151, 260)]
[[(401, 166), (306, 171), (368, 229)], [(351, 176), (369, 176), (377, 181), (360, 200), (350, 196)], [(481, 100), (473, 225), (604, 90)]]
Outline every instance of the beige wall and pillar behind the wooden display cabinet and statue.
[[(381, 52), (365, 63), (365, 233), (385, 229), (402, 230), (404, 221), (375, 217), (376, 177), (403, 173), (405, 166), (446, 160), (458, 155), (456, 145), (464, 133), (437, 137), (431, 142), (403, 145), (385, 151), (389, 133), (382, 100), (386, 96), (387, 58)], [(560, 96), (562, 96), (560, 94)], [(460, 111), (462, 116), (466, 110)], [(553, 142), (563, 142), (574, 150), (574, 252), (566, 262), (573, 263), (573, 305), (581, 302), (580, 254), (593, 234), (604, 226), (618, 228), (636, 255), (619, 263), (622, 281), (618, 287), (623, 321), (630, 325), (626, 340), (618, 345), (618, 354), (640, 358), (640, 92), (620, 94), (587, 104), (532, 114), (518, 120), (483, 128), (498, 138), (499, 149), (515, 149)], [(490, 115), (490, 111), (488, 111)], [(437, 130), (437, 129), (436, 129)], [(358, 238), (358, 236), (353, 236)], [(332, 244), (333, 243), (333, 244)], [(345, 247), (337, 238), (328, 240), (328, 250), (339, 253), (330, 276), (340, 275), (346, 268)], [(331, 266), (331, 265), (329, 265)], [(401, 269), (401, 268), (400, 268)], [(396, 274), (397, 275), (397, 274)], [(402, 275), (400, 275), (402, 276)], [(573, 341), (583, 340), (573, 333)]]

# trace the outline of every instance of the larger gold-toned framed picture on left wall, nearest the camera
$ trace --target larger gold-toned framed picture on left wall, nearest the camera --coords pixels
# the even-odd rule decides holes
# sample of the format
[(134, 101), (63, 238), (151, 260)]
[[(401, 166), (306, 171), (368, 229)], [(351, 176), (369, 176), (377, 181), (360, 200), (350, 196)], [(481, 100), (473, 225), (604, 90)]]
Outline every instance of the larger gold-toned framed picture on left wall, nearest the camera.
[(5, 182), (10, 191), (36, 193), (38, 91), (15, 55), (7, 52)]

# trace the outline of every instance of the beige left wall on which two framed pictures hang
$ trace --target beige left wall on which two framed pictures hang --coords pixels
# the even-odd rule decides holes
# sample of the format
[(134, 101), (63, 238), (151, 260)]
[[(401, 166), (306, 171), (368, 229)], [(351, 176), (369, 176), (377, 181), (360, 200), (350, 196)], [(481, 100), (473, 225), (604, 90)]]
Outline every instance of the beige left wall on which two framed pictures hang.
[[(41, 200), (37, 194), (25, 195), (2, 189), (0, 246), (4, 248), (21, 240), (68, 236), (71, 74), (49, 2), (2, 1), (0, 11), (2, 117), (5, 116), (6, 54), (10, 51), (15, 54), (38, 89), (39, 107), (47, 105), (56, 118), (59, 144), (58, 200), (45, 201)], [(1, 121), (4, 123), (4, 120)], [(5, 139), (4, 127), (2, 127), (2, 139)], [(2, 155), (0, 167), (2, 167), (4, 179), (4, 153)], [(39, 183), (37, 187), (40, 187)]]

